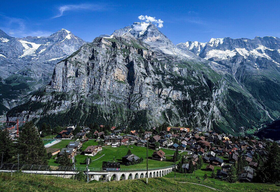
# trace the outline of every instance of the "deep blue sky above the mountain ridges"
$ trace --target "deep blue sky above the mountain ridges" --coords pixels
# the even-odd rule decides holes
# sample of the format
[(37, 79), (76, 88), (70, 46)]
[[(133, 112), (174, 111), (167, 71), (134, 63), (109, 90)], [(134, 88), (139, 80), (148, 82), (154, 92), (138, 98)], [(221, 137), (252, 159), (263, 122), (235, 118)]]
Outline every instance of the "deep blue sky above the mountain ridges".
[(280, 37), (279, 1), (2, 1), (0, 29), (13, 37), (46, 36), (65, 28), (84, 40), (147, 15), (174, 44), (212, 37)]

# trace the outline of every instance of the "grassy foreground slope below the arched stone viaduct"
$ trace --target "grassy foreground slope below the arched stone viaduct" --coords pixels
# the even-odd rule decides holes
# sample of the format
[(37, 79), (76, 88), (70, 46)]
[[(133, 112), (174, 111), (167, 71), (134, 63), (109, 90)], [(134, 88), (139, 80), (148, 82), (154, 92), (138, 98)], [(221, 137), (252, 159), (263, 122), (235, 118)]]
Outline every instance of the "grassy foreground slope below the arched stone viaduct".
[[(167, 174), (167, 177), (174, 176), (174, 172)], [(179, 176), (179, 174), (177, 174)], [(183, 176), (181, 174), (181, 176)], [(8, 173), (0, 173), (0, 191), (213, 191), (210, 188), (199, 186), (191, 183), (180, 183), (187, 181), (197, 183), (197, 179), (174, 179), (160, 177), (150, 178), (148, 185), (145, 179), (124, 180), (108, 183), (93, 181), (82, 183), (72, 179), (57, 178), (54, 176), (42, 175), (20, 175), (13, 174), (11, 177)], [(217, 181), (217, 180), (216, 180)], [(211, 182), (210, 180), (201, 181), (200, 184), (211, 186), (221, 191), (277, 191), (278, 186), (275, 184), (259, 183), (235, 183)]]

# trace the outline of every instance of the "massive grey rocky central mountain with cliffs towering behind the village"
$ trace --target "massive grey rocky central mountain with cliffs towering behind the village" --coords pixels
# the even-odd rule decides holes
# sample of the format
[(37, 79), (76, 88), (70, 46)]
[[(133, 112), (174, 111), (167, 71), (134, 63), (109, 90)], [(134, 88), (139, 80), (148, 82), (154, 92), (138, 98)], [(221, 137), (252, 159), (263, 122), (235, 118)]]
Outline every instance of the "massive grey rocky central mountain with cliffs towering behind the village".
[(57, 63), (46, 89), (7, 118), (133, 129), (168, 122), (228, 133), (267, 118), (232, 74), (212, 68), (213, 62), (172, 44), (153, 24), (134, 23)]

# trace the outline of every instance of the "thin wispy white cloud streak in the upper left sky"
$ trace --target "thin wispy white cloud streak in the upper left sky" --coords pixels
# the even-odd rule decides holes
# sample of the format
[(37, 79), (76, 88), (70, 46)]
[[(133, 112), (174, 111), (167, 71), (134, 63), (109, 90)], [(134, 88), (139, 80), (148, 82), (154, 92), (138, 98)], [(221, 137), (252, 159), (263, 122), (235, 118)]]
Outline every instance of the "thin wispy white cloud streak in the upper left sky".
[(75, 11), (75, 10), (100, 10), (101, 7), (98, 5), (94, 4), (79, 4), (79, 5), (63, 5), (58, 8), (59, 14), (52, 17), (52, 18), (57, 18), (61, 17), (65, 11)]

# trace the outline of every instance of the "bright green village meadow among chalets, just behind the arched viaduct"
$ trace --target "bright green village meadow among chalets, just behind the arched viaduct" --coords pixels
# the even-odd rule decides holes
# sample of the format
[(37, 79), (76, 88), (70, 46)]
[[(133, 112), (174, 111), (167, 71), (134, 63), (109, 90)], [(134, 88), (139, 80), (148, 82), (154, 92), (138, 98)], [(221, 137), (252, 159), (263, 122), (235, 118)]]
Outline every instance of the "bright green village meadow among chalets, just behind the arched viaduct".
[[(52, 146), (52, 148), (62, 148), (62, 147), (65, 147), (65, 145), (67, 145), (71, 140), (62, 140), (60, 141), (59, 143), (55, 144)], [(97, 142), (94, 141), (94, 140), (89, 140), (89, 141), (86, 141), (85, 143), (83, 143), (83, 146), (82, 146), (82, 150), (85, 150), (85, 148), (87, 148), (88, 146), (90, 145), (97, 145)], [(133, 148), (131, 148), (133, 147)], [(122, 145), (120, 147), (117, 147), (117, 148), (114, 148), (114, 147), (102, 147), (102, 151), (99, 152), (97, 155), (95, 155), (94, 157), (91, 157), (92, 160), (95, 160), (95, 159), (98, 159), (99, 157), (101, 157), (103, 154), (104, 156), (101, 157), (100, 159), (98, 160), (95, 160), (95, 161), (92, 161), (90, 164), (89, 164), (89, 167), (101, 167), (102, 166), (102, 161), (108, 161), (108, 160), (111, 160), (113, 161), (114, 160), (114, 157), (115, 157), (115, 161), (116, 162), (122, 162), (122, 157), (124, 155), (126, 155), (128, 149), (131, 150), (132, 153), (134, 153), (136, 156), (138, 157), (143, 157), (144, 161), (143, 163), (141, 164), (136, 164), (136, 165), (128, 165), (128, 166), (125, 166), (125, 165), (120, 165), (121, 168), (145, 168), (146, 167), (146, 148), (145, 147), (137, 147), (135, 145), (130, 145), (129, 147), (125, 146), (125, 145)], [(162, 149), (167, 155), (173, 155), (174, 154), (174, 151), (173, 150), (168, 150), (168, 149)], [(153, 151), (152, 149), (149, 149), (148, 150), (148, 156), (151, 157), (151, 155), (153, 154)], [(54, 165), (54, 166), (57, 166), (58, 164), (55, 163), (55, 157), (57, 155), (53, 155), (53, 157), (49, 160), (49, 165)], [(76, 155), (75, 156), (75, 164), (77, 167), (86, 167), (85, 164), (83, 164), (84, 160), (86, 159), (87, 157), (85, 155)], [(172, 157), (168, 157), (166, 156), (166, 159), (171, 159)], [(149, 167), (165, 167), (165, 166), (169, 166), (169, 165), (172, 165), (172, 162), (169, 162), (169, 161), (157, 161), (157, 160), (152, 160), (152, 159), (149, 159)]]

